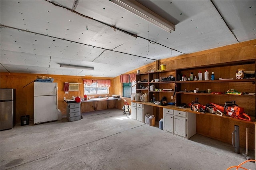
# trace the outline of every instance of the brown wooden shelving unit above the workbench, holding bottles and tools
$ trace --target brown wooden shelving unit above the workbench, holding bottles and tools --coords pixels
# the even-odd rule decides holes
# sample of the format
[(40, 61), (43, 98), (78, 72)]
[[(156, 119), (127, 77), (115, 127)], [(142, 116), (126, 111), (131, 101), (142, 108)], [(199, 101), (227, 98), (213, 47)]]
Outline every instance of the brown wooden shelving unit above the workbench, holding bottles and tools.
[[(198, 78), (198, 72), (202, 71), (204, 79), (204, 71), (208, 70), (209, 73), (214, 71), (215, 80), (202, 80), (202, 81), (160, 81), (151, 82), (154, 79), (161, 79), (161, 77), (168, 77), (172, 75), (177, 77), (178, 75), (185, 75), (189, 77), (190, 72), (194, 73), (194, 77)], [(255, 60), (244, 60), (227, 63), (217, 63), (210, 65), (203, 65), (197, 67), (180, 68), (176, 70), (164, 70), (160, 72), (148, 72), (137, 74), (137, 81), (146, 80), (146, 82), (137, 82), (136, 93), (148, 93), (148, 101), (155, 95), (156, 101), (160, 101), (162, 97), (166, 97), (168, 102), (175, 102), (176, 106), (181, 103), (191, 103), (198, 98), (198, 101), (202, 105), (207, 103), (216, 103), (217, 105), (224, 106), (226, 101), (236, 101), (236, 104), (243, 107), (245, 112), (256, 117), (255, 105), (256, 97), (251, 95), (226, 95), (226, 91), (229, 89), (235, 89), (240, 92), (255, 93), (256, 79), (235, 79), (236, 71), (238, 69), (245, 69), (246, 71), (255, 71)], [(230, 80), (219, 80), (219, 78), (234, 78)], [(174, 89), (176, 84), (176, 94), (174, 95)], [(150, 85), (154, 85), (156, 89), (172, 89), (173, 91), (150, 91)], [(141, 89), (140, 86), (146, 89)], [(199, 91), (205, 91), (206, 93), (194, 93), (194, 90), (199, 88)], [(186, 89), (186, 91), (185, 91)], [(207, 93), (207, 89), (211, 89), (212, 92), (221, 92), (224, 94), (211, 94)], [(188, 92), (189, 91), (189, 92)], [(173, 96), (174, 95), (174, 96)]]

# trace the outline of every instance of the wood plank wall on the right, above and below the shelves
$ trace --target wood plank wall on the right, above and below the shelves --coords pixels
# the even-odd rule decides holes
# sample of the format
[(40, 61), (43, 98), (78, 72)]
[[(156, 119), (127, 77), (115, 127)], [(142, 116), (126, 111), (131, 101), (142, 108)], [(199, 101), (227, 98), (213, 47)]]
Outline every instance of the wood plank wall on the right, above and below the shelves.
[[(166, 69), (181, 69), (186, 67), (201, 67), (204, 65), (225, 63), (231, 61), (241, 61), (248, 59), (256, 59), (256, 40), (251, 40), (242, 43), (236, 43), (233, 45), (227, 45), (224, 47), (218, 47), (215, 49), (209, 49), (205, 51), (199, 51), (196, 53), (190, 53), (185, 55), (180, 55), (177, 57), (171, 57), (167, 59), (161, 59), (159, 61), (144, 65), (143, 67), (138, 68), (140, 73), (146, 73), (150, 68), (156, 67), (159, 69), (160, 64), (166, 64)], [(255, 68), (255, 66), (253, 66)], [(156, 71), (156, 69), (154, 69)], [(132, 70), (126, 74), (136, 73), (136, 70)], [(216, 74), (220, 74), (220, 71), (216, 71)], [(217, 75), (216, 75), (217, 76)], [(115, 77), (120, 79), (120, 77)], [(252, 85), (255, 91), (255, 85)], [(122, 90), (121, 83), (115, 84), (115, 88)], [(191, 101), (190, 101), (191, 102)], [(252, 107), (255, 105), (255, 99), (251, 104)], [(248, 109), (247, 109), (248, 110)], [(251, 115), (255, 115), (255, 107), (248, 110)], [(154, 111), (155, 112), (155, 111)], [(158, 119), (162, 117), (162, 111), (159, 111)], [(231, 119), (221, 119), (220, 117), (212, 117), (208, 115), (196, 115), (196, 131), (198, 134), (208, 136), (210, 138), (220, 140), (232, 144), (231, 133), (234, 130), (234, 125), (240, 127), (240, 146), (245, 148), (245, 129), (249, 128), (249, 149), (254, 150), (255, 142), (255, 129), (254, 124), (244, 123), (240, 121), (233, 121)]]

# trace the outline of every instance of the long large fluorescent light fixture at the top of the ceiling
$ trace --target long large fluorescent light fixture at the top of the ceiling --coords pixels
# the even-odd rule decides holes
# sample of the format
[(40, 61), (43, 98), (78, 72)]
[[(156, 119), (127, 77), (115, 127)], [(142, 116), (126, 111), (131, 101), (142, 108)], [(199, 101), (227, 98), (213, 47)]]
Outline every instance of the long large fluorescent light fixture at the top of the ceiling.
[(162, 28), (167, 32), (175, 30), (175, 25), (162, 18), (152, 10), (146, 8), (136, 0), (110, 0), (114, 4), (132, 12), (133, 14), (143, 18), (144, 20)]

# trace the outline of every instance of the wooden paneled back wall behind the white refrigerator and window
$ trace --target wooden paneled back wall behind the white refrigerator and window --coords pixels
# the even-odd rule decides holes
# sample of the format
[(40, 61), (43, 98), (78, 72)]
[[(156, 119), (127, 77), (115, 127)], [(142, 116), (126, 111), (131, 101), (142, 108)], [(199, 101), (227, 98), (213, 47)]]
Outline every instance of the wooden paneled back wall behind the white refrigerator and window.
[[(1, 73), (1, 88), (16, 89), (16, 123), (20, 122), (20, 116), (30, 115), (34, 119), (34, 80), (40, 74), (23, 74), (23, 73)], [(102, 77), (84, 77), (84, 76), (64, 76), (64, 75), (44, 75), (52, 77), (54, 82), (58, 83), (58, 109), (62, 115), (66, 115), (66, 99), (71, 99), (72, 96), (84, 96), (83, 79), (110, 79), (111, 86), (109, 95), (114, 95), (114, 78)], [(64, 82), (81, 83), (80, 91), (70, 91), (69, 94), (64, 94)], [(98, 95), (93, 95), (98, 97)], [(84, 110), (87, 111), (87, 110)], [(91, 111), (91, 110), (88, 110)]]

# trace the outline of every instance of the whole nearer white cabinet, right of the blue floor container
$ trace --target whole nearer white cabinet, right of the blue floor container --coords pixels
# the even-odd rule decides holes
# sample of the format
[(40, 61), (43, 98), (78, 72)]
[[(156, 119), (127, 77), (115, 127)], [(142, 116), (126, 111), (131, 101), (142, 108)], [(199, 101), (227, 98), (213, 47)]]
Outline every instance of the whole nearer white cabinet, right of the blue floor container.
[(196, 114), (166, 108), (163, 111), (164, 130), (184, 138), (196, 134)]

